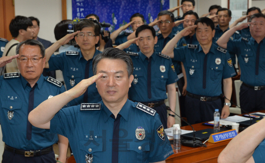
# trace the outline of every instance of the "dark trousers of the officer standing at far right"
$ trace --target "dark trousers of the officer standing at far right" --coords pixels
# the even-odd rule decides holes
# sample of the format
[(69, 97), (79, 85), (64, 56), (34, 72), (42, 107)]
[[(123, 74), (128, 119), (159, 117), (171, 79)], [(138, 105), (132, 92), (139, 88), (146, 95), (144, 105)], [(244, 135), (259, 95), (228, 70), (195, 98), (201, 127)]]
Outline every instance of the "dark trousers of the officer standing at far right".
[[(265, 90), (255, 91), (243, 84), (239, 92), (240, 107), (246, 112), (265, 110)], [(242, 114), (244, 111), (242, 111)]]

